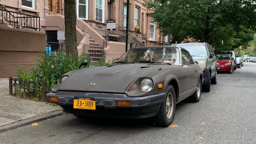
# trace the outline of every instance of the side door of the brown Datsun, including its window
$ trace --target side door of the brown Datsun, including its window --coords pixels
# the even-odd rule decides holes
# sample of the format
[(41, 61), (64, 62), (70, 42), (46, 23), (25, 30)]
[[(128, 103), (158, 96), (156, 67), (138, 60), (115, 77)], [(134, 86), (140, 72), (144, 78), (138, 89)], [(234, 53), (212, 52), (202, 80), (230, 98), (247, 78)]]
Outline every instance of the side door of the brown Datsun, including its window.
[(198, 72), (194, 67), (194, 61), (192, 60), (189, 52), (181, 50), (181, 61), (182, 61), (182, 73), (179, 77), (179, 83), (181, 88), (180, 98), (183, 99), (196, 88), (198, 81)]

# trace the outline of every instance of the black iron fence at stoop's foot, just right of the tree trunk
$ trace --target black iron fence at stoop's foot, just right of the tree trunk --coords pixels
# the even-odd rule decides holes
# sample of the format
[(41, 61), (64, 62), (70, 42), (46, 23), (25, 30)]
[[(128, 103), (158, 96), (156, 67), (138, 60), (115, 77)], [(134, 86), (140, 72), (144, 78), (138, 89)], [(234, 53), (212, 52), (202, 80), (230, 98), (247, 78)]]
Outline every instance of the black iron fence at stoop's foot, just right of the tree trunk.
[(83, 45), (83, 52), (88, 54), (93, 61), (98, 61), (104, 56), (104, 48), (103, 46), (94, 46), (85, 44)]

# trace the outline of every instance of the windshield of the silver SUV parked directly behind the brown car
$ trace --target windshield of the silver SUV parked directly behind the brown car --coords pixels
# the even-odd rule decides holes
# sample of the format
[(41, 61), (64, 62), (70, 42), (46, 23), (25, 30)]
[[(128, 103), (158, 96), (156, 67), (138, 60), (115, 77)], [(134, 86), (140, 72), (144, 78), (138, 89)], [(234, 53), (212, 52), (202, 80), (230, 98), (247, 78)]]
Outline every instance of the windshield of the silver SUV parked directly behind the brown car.
[(196, 45), (196, 44), (184, 44), (184, 45), (177, 45), (179, 47), (185, 48), (191, 56), (197, 56), (197, 57), (206, 57), (207, 51), (206, 47), (203, 44)]

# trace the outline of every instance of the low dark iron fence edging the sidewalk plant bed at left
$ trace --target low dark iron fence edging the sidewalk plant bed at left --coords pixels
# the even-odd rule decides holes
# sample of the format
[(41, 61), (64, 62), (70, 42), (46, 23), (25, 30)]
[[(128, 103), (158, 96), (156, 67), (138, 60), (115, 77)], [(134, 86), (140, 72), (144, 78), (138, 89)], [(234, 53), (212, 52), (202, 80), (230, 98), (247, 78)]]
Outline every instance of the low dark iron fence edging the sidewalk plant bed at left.
[(51, 91), (50, 84), (45, 81), (27, 81), (19, 78), (9, 77), (9, 94), (13, 95), (24, 94), (28, 98), (37, 97), (43, 102), (46, 102), (46, 93)]

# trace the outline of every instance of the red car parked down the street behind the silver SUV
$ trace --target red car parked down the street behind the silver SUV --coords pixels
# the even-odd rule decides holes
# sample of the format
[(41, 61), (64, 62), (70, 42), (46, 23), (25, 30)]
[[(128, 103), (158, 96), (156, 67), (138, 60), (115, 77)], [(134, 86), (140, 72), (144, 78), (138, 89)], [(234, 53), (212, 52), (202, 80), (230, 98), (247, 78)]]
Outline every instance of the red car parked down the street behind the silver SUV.
[(227, 71), (233, 73), (234, 71), (234, 58), (229, 54), (217, 54), (217, 71)]

